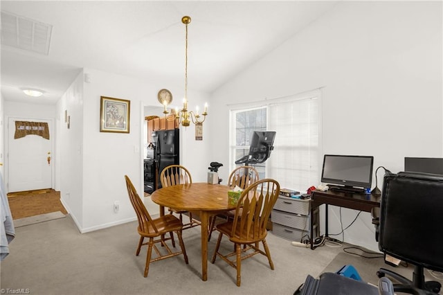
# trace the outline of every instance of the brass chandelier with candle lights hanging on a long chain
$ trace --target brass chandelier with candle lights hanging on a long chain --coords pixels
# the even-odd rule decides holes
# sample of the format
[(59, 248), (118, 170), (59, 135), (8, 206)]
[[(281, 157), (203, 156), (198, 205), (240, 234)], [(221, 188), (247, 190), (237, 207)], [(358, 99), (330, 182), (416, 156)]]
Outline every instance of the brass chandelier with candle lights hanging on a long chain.
[[(173, 117), (174, 120), (177, 120), (179, 124), (181, 124), (184, 127), (188, 127), (190, 125), (190, 122), (194, 123), (195, 125), (201, 123), (204, 123), (204, 120), (206, 119), (206, 115), (208, 115), (208, 104), (205, 103), (204, 111), (199, 114), (199, 107), (196, 107), (196, 111), (188, 111), (188, 24), (191, 22), (191, 18), (188, 16), (184, 16), (181, 18), (181, 22), (185, 24), (186, 26), (186, 46), (185, 46), (185, 96), (183, 98), (183, 108), (179, 110), (178, 107), (175, 108), (175, 116)], [(167, 107), (168, 104), (172, 100), (163, 100), (163, 114), (167, 116), (170, 111), (168, 111)], [(203, 118), (201, 117), (203, 116)], [(170, 118), (170, 117), (167, 117)]]

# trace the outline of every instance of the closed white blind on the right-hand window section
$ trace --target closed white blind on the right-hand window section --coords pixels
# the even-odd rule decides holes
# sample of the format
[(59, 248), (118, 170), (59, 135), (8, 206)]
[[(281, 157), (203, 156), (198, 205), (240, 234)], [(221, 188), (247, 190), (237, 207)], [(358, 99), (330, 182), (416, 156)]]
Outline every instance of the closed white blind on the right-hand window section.
[(318, 99), (269, 106), (269, 129), (275, 130), (269, 175), (284, 188), (306, 191), (318, 183)]

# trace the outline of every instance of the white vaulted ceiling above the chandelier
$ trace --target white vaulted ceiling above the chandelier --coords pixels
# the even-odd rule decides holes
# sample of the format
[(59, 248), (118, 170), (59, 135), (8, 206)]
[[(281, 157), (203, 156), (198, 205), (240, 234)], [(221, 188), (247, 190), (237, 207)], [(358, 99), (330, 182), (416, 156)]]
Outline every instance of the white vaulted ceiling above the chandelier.
[[(332, 9), (336, 1), (1, 1), (1, 10), (53, 26), (48, 55), (2, 44), (5, 100), (55, 103), (82, 68), (212, 92)], [(28, 98), (23, 87), (42, 89)]]

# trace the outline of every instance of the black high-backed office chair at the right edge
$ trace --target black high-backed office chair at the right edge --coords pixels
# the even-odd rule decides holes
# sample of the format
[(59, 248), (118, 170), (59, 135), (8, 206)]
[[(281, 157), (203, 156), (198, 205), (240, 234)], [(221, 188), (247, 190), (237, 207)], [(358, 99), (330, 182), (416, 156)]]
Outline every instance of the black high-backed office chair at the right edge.
[(443, 271), (443, 175), (419, 172), (387, 174), (380, 204), (379, 249), (414, 265), (413, 280), (381, 268), (379, 278), (397, 280), (394, 290), (437, 294), (441, 284), (425, 282), (424, 268)]

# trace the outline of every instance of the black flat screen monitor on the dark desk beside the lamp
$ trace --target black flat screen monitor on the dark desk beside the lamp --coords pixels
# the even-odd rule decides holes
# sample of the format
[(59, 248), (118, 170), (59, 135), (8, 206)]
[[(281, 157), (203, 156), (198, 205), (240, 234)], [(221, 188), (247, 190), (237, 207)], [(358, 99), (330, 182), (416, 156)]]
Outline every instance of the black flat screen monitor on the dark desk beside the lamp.
[(372, 186), (372, 156), (325, 154), (321, 182), (350, 188)]

